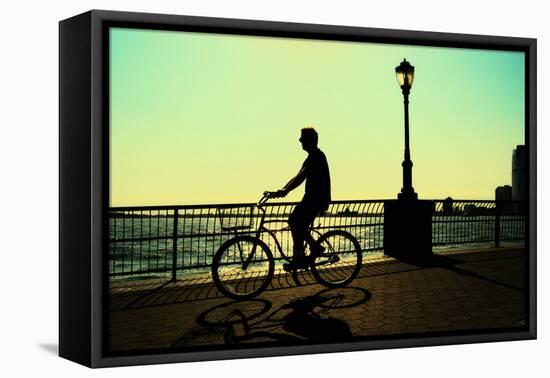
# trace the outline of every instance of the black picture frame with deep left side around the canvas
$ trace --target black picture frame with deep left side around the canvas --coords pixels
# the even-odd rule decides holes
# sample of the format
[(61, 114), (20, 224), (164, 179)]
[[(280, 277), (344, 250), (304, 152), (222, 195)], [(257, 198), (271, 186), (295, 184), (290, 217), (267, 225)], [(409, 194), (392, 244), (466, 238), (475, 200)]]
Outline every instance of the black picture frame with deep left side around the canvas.
[[(108, 209), (106, 30), (111, 26), (525, 52), (528, 327), (307, 346), (105, 353)], [(536, 338), (536, 39), (92, 10), (59, 24), (59, 354), (89, 367), (220, 360)]]

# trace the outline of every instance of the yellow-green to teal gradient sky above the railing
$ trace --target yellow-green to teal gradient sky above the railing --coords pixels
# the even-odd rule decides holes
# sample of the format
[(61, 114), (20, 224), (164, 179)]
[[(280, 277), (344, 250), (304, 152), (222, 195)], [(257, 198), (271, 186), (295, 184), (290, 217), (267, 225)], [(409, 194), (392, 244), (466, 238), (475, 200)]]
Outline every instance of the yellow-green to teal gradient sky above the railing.
[(110, 48), (111, 206), (254, 202), (297, 173), (307, 125), (333, 199), (396, 198), (404, 57), (420, 198), (494, 199), (524, 143), (520, 52), (122, 28)]

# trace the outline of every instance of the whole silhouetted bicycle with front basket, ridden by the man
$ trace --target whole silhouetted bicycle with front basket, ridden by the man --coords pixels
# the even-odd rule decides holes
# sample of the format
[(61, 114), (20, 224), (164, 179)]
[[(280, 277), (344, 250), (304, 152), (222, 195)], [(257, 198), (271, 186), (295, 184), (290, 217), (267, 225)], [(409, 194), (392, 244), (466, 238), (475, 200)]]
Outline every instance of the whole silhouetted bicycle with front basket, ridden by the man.
[[(266, 227), (270, 223), (288, 224), (286, 219), (266, 219), (266, 204), (274, 195), (273, 192), (264, 192), (256, 204), (255, 208), (261, 215), (252, 235), (250, 231), (244, 232), (252, 228), (252, 221), (248, 225), (221, 226), (223, 230), (232, 230), (236, 235), (220, 246), (212, 261), (214, 284), (227, 297), (237, 300), (253, 298), (270, 284), (275, 272), (275, 258), (261, 239), (262, 235), (268, 235), (273, 240), (283, 260), (291, 261), (276, 235), (276, 232), (290, 231), (290, 227), (278, 230)], [(250, 219), (253, 217), (252, 210)], [(311, 261), (305, 270), (310, 270), (317, 282), (329, 288), (343, 287), (353, 281), (362, 264), (362, 251), (357, 239), (344, 230), (321, 233), (312, 225), (309, 232), (317, 235), (315, 244), (308, 246), (309, 250), (313, 247), (313, 250), (323, 252), (313, 255), (310, 252)], [(295, 274), (298, 270), (293, 269), (291, 273)]]

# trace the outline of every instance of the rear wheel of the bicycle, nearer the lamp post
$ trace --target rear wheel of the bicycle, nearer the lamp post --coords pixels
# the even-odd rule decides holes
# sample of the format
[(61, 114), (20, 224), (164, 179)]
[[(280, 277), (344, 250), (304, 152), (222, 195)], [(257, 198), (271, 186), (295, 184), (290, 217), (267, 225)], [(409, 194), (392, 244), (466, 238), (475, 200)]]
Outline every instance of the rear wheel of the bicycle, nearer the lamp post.
[(362, 252), (357, 239), (342, 230), (329, 231), (316, 244), (324, 248), (311, 264), (311, 273), (326, 287), (342, 287), (349, 284), (361, 270)]

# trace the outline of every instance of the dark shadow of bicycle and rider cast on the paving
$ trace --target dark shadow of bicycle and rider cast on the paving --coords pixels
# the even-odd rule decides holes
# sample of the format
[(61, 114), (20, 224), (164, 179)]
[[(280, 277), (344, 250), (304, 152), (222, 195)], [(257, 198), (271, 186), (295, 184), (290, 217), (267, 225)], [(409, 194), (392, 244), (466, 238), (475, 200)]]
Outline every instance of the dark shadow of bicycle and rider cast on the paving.
[(349, 341), (353, 334), (339, 309), (352, 308), (371, 298), (358, 287), (324, 289), (296, 298), (272, 310), (265, 299), (229, 301), (202, 312), (194, 330), (180, 336), (172, 347), (213, 344)]

